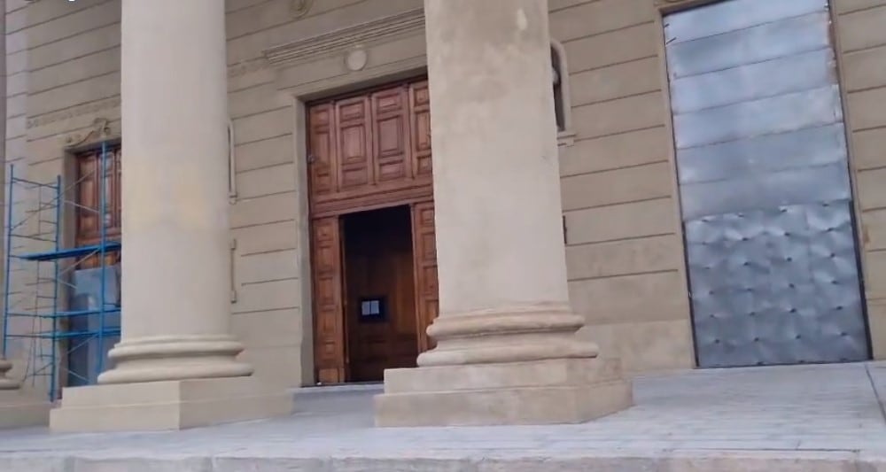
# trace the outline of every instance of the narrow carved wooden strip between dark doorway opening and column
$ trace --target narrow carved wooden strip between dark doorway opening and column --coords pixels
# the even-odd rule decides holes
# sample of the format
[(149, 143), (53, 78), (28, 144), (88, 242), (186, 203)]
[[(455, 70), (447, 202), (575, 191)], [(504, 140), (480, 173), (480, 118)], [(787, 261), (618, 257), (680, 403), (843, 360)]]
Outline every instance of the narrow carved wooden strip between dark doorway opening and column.
[(434, 347), (433, 340), (427, 335), (427, 329), (439, 313), (433, 202), (412, 206), (412, 244), (416, 270), (418, 352), (425, 352)]

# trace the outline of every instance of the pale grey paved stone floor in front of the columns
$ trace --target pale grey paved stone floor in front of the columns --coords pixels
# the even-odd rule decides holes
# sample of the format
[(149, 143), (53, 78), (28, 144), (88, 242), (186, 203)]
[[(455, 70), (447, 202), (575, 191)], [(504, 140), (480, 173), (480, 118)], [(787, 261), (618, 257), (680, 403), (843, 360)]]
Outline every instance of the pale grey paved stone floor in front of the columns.
[(374, 389), (297, 394), (290, 418), (168, 433), (0, 432), (2, 472), (886, 472), (886, 364), (638, 379), (637, 405), (567, 426), (377, 429)]

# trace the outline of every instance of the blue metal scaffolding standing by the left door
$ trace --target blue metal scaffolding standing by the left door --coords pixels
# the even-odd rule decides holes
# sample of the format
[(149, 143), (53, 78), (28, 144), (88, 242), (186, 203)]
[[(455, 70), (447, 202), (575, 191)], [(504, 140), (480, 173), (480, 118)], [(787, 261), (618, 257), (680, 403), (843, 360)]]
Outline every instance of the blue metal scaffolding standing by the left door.
[[(62, 386), (95, 383), (105, 369), (107, 343), (120, 337), (120, 298), (108, 290), (119, 293), (119, 266), (108, 266), (106, 256), (120, 251), (120, 242), (108, 238), (105, 225), (107, 153), (103, 143), (100, 164), (94, 167), (100, 173), (98, 208), (67, 197), (68, 188), (84, 176), (66, 188), (60, 175), (55, 182), (43, 183), (17, 176), (15, 166), (8, 172), (3, 353), (7, 359), (27, 360), (26, 382), (46, 388), (50, 401), (60, 398)], [(36, 208), (17, 211), (16, 205), (23, 203), (35, 203)], [(64, 244), (65, 215), (76, 212), (97, 214), (97, 244)], [(46, 250), (33, 251), (35, 246)], [(89, 269), (97, 273), (97, 281), (92, 279), (97, 292), (89, 293), (86, 306), (76, 306), (74, 296), (83, 291), (83, 282), (74, 275), (89, 258), (98, 260), (97, 267)]]

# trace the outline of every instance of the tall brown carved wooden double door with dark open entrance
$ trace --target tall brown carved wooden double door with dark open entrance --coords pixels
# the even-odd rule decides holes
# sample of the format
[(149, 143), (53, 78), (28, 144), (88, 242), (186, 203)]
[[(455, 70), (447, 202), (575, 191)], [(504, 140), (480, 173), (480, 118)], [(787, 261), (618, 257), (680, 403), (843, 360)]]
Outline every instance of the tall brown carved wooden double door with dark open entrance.
[(380, 381), (432, 347), (438, 313), (424, 79), (310, 104), (318, 383)]

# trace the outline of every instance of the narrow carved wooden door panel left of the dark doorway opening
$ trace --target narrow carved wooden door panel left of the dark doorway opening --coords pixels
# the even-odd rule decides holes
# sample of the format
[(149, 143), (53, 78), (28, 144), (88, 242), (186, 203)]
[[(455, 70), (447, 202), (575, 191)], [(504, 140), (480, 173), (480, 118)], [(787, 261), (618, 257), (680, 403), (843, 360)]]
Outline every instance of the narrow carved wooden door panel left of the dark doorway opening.
[(311, 231), (316, 378), (319, 383), (343, 383), (347, 378), (347, 340), (339, 219), (317, 219)]

